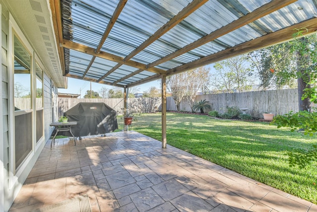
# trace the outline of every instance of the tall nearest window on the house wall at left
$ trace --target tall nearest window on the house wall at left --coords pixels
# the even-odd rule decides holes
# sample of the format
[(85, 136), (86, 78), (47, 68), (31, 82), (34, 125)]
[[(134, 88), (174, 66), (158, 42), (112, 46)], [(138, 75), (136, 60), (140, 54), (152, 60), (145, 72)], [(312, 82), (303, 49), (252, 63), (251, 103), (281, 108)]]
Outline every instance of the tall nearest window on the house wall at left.
[(32, 151), (31, 54), (14, 36), (14, 144), (15, 168)]

